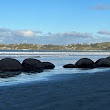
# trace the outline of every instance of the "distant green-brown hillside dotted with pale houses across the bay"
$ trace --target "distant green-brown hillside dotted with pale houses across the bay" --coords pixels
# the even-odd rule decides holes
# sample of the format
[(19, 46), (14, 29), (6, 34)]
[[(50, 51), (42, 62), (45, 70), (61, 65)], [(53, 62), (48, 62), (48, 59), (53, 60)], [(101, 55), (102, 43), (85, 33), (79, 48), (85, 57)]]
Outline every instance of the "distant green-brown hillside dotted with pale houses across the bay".
[(0, 50), (110, 50), (110, 42), (94, 44), (40, 45), (40, 44), (0, 44)]

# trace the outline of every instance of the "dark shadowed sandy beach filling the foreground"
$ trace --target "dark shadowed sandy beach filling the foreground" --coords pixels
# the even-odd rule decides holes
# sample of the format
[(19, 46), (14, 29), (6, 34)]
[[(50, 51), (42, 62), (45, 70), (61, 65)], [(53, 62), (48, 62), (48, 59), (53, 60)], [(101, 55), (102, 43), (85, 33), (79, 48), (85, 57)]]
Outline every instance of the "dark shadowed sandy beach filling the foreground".
[[(0, 110), (109, 110), (110, 73), (63, 74), (0, 87)], [(50, 76), (51, 78), (51, 76)]]

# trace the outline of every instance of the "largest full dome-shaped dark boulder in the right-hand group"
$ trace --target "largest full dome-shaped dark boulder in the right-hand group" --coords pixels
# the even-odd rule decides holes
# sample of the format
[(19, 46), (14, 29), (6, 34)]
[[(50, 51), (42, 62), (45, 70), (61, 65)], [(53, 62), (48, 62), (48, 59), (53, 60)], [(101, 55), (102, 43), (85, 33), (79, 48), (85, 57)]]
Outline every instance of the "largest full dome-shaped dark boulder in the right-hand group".
[(75, 65), (77, 68), (94, 68), (94, 62), (89, 58), (81, 58)]

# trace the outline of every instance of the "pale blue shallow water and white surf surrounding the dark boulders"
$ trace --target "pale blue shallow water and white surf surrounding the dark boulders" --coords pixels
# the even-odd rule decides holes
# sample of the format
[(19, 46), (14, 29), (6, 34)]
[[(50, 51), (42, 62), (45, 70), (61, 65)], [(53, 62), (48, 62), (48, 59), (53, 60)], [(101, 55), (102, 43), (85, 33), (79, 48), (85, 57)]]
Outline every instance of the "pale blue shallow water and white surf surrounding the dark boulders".
[(96, 61), (99, 58), (110, 56), (106, 51), (36, 51), (36, 50), (1, 50), (0, 59), (10, 57), (19, 60), (21, 63), (25, 58), (35, 58), (40, 61), (49, 61), (55, 65), (53, 70), (45, 70), (42, 73), (23, 73), (10, 78), (0, 78), (0, 86), (22, 84), (30, 82), (62, 81), (82, 76), (90, 76), (100, 72), (109, 72), (109, 68), (78, 69), (63, 68), (63, 65), (73, 63), (80, 58), (90, 58)]

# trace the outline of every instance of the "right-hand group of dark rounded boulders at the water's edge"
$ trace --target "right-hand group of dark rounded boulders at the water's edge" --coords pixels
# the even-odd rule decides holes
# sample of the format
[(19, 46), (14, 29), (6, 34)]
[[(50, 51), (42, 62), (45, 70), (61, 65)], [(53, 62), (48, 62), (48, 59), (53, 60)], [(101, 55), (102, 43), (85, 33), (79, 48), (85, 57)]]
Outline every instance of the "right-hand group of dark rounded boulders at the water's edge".
[(110, 67), (110, 57), (100, 58), (96, 62), (89, 58), (81, 58), (75, 64), (66, 64), (64, 68), (98, 68)]

